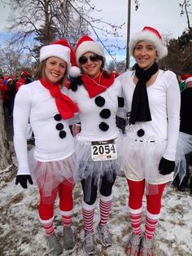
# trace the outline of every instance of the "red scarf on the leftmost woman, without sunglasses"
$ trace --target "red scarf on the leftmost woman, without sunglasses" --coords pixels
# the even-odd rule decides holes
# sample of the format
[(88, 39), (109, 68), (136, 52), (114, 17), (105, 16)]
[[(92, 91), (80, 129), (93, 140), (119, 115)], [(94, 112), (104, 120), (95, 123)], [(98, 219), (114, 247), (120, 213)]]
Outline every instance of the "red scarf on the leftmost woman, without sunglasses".
[(64, 95), (60, 88), (59, 83), (52, 84), (51, 82), (40, 79), (41, 84), (50, 90), (50, 95), (55, 98), (55, 104), (58, 108), (59, 114), (63, 119), (69, 119), (79, 111), (76, 104), (67, 95)]

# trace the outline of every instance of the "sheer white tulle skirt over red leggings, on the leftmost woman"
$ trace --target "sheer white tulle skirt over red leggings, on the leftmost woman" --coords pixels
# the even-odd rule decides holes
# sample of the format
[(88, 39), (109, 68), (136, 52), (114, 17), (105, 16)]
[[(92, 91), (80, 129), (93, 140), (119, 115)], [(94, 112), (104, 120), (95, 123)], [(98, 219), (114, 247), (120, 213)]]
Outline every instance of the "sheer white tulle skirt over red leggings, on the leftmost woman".
[(60, 183), (75, 184), (78, 180), (74, 154), (60, 161), (37, 161), (32, 150), (28, 153), (28, 165), (33, 182), (37, 184), (45, 201), (49, 201), (46, 197), (49, 198)]

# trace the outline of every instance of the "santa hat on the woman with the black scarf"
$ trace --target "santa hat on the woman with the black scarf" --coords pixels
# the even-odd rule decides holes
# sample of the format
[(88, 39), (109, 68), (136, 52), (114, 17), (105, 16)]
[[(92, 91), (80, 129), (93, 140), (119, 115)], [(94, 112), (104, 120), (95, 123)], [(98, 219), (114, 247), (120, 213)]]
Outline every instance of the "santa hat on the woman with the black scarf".
[(156, 29), (151, 27), (144, 27), (142, 32), (137, 33), (129, 42), (130, 54), (133, 55), (137, 42), (150, 41), (155, 46), (157, 51), (157, 60), (160, 60), (168, 55), (168, 49), (164, 46), (162, 38)]

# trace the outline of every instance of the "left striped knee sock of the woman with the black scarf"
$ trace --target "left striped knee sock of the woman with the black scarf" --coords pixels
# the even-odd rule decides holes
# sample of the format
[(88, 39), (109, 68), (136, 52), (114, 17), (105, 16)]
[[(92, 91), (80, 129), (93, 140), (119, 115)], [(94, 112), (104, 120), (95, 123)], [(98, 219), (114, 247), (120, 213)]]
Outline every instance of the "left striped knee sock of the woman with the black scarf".
[(137, 210), (129, 207), (129, 217), (133, 233), (140, 235), (142, 233), (142, 207)]

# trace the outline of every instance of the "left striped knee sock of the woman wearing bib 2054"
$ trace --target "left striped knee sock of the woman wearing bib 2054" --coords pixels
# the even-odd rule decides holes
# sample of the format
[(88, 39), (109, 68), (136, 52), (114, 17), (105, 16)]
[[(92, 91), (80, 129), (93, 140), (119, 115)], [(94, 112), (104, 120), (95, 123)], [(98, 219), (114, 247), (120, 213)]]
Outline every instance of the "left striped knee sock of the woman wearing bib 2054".
[(82, 213), (84, 221), (85, 232), (94, 232), (94, 205), (87, 205), (84, 201), (82, 203)]

